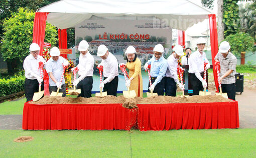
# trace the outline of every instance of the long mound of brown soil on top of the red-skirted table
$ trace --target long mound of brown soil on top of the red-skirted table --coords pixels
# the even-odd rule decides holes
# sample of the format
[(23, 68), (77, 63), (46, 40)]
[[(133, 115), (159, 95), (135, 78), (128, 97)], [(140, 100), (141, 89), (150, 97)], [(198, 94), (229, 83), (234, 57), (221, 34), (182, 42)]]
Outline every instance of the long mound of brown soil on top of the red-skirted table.
[(137, 104), (164, 104), (164, 103), (208, 103), (208, 102), (229, 102), (232, 100), (226, 99), (222, 96), (190, 96), (190, 97), (171, 97), (171, 96), (152, 96), (148, 98), (135, 97), (131, 99), (124, 98), (123, 96), (105, 97), (49, 97), (45, 96), (39, 101), (32, 101), (32, 104), (122, 104), (125, 108), (135, 108)]

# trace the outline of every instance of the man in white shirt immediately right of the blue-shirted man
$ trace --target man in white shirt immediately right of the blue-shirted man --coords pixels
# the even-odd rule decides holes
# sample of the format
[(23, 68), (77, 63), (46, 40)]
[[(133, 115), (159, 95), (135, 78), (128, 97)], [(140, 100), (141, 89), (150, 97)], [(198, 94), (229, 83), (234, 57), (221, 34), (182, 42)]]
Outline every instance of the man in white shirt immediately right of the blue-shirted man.
[(178, 60), (183, 54), (182, 46), (176, 45), (173, 48), (173, 54), (171, 54), (166, 60), (168, 63), (168, 68), (165, 73), (165, 95), (176, 96), (176, 83), (179, 85), (181, 90), (184, 88), (184, 85), (180, 83), (177, 74)]

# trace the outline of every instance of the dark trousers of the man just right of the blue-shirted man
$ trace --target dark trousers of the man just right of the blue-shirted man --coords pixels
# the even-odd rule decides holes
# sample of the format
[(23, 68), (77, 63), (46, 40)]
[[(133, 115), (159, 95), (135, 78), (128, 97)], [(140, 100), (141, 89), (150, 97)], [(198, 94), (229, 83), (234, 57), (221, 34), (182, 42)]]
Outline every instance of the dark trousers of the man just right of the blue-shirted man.
[(165, 80), (165, 95), (176, 96), (176, 82), (171, 77), (164, 77)]

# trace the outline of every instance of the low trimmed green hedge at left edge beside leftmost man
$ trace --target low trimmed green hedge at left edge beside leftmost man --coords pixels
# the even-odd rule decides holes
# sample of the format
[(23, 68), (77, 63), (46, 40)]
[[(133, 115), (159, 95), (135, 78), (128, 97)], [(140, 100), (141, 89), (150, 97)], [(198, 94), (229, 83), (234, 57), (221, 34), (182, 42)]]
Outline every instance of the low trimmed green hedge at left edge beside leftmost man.
[(19, 72), (10, 79), (0, 79), (0, 97), (24, 91), (24, 71)]

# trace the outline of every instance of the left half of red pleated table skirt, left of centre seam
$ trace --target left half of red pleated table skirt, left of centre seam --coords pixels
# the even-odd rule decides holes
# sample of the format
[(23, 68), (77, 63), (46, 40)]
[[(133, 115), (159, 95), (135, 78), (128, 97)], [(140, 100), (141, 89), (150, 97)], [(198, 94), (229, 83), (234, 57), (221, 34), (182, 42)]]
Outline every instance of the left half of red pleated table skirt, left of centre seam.
[(137, 109), (121, 104), (46, 104), (25, 103), (23, 129), (121, 129), (130, 130), (137, 123)]

